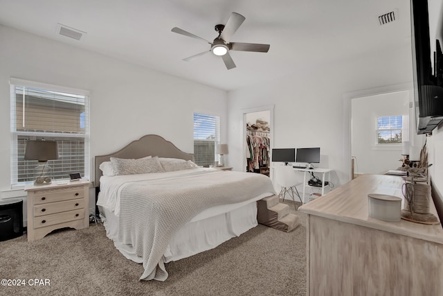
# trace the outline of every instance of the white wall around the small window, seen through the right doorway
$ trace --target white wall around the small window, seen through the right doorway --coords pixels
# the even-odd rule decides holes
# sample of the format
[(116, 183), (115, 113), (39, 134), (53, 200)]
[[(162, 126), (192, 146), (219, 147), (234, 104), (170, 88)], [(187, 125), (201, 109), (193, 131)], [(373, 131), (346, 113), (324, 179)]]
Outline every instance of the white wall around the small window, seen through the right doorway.
[[(407, 91), (352, 99), (351, 152), (357, 164), (355, 173), (383, 173), (401, 166), (399, 162), (402, 153), (401, 145), (377, 146), (377, 118), (379, 116), (408, 116), (409, 109), (412, 109), (409, 108), (409, 101), (410, 92)], [(408, 139), (407, 134), (404, 135), (404, 139)]]

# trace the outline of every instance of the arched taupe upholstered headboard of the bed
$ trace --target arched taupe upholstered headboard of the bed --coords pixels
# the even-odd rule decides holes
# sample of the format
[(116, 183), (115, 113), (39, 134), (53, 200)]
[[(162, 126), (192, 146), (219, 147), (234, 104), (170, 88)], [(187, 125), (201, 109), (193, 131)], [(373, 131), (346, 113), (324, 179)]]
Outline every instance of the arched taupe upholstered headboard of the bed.
[(194, 155), (192, 153), (181, 151), (173, 143), (166, 141), (163, 137), (156, 134), (147, 134), (136, 141), (132, 141), (115, 153), (94, 157), (94, 186), (100, 186), (102, 171), (99, 166), (102, 162), (109, 162), (111, 157), (137, 159), (149, 155), (194, 161)]

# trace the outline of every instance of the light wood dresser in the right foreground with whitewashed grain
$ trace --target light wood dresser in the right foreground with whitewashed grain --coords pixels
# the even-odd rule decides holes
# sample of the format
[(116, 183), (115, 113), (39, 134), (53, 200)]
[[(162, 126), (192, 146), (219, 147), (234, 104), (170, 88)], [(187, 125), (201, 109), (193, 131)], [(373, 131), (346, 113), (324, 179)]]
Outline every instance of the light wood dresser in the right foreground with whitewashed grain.
[(442, 225), (368, 215), (368, 193), (403, 198), (402, 184), (361, 175), (298, 209), (307, 214), (307, 295), (443, 295)]

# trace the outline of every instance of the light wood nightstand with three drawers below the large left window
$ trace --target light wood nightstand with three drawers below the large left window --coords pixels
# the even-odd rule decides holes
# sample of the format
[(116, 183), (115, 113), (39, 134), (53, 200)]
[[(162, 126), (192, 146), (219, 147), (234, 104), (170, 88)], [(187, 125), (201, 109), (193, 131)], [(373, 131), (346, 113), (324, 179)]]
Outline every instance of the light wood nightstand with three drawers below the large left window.
[(28, 185), (28, 241), (43, 238), (55, 229), (89, 227), (89, 184), (87, 180)]

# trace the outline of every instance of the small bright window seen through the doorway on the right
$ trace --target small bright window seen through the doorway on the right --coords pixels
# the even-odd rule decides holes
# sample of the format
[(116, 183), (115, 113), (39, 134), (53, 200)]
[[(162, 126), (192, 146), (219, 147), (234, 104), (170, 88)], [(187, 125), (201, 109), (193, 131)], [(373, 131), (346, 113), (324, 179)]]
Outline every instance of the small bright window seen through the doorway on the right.
[(403, 116), (381, 116), (377, 118), (377, 143), (401, 144)]

